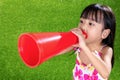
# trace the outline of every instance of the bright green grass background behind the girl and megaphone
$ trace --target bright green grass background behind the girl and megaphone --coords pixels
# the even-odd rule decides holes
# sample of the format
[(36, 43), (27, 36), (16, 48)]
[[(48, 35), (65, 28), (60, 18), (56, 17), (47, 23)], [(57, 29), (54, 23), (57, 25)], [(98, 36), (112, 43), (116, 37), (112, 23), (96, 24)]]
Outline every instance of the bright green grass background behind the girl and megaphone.
[(74, 55), (60, 55), (31, 69), (20, 59), (17, 40), (24, 32), (69, 31), (91, 3), (109, 5), (116, 15), (115, 65), (110, 80), (120, 79), (119, 0), (0, 0), (0, 80), (72, 80)]

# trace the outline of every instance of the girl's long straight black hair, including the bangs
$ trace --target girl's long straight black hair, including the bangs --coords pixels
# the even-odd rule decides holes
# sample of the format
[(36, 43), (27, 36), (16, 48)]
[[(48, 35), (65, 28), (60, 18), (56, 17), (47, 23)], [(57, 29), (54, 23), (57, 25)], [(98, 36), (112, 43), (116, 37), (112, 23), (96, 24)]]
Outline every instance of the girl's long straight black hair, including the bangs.
[(113, 49), (113, 56), (111, 60), (113, 67), (116, 19), (111, 8), (105, 5), (91, 4), (83, 10), (80, 18), (85, 18), (85, 19), (92, 18), (92, 20), (98, 23), (103, 22), (104, 29), (110, 29), (110, 34), (106, 39), (102, 40), (102, 44), (105, 44)]

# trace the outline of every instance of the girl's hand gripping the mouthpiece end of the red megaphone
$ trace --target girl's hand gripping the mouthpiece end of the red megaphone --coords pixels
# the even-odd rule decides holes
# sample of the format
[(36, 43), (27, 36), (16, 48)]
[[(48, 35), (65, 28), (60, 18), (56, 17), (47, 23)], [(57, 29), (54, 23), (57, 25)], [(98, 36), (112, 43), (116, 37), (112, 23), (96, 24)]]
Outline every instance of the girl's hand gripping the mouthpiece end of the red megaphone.
[(85, 35), (83, 35), (83, 32), (79, 28), (74, 28), (71, 30), (73, 34), (75, 34), (78, 37), (78, 44), (74, 45), (75, 47), (80, 47), (81, 49), (86, 45), (85, 43)]

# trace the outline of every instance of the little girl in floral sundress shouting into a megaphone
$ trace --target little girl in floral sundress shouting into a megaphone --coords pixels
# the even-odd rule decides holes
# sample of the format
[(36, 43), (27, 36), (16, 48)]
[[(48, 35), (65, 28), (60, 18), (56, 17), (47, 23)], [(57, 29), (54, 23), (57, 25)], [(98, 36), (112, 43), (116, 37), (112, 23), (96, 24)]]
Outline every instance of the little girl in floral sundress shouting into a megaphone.
[[(77, 55), (74, 80), (108, 80), (113, 67), (115, 27), (110, 7), (92, 4), (83, 10), (78, 27), (71, 30), (79, 39), (74, 46)], [(65, 51), (70, 49), (72, 47)]]

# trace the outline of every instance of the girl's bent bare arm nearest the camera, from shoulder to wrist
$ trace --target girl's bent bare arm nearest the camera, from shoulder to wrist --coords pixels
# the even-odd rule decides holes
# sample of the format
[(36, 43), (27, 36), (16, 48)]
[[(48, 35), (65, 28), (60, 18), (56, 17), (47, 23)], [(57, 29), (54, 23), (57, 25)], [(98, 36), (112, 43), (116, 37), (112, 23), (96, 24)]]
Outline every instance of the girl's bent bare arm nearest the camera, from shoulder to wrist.
[(98, 73), (103, 78), (105, 79), (108, 78), (111, 71), (112, 49), (107, 47), (103, 51), (104, 52), (103, 60), (98, 58), (94, 52), (91, 52), (86, 45), (84, 45), (84, 48), (82, 48), (82, 50), (89, 58), (92, 65), (96, 68)]

